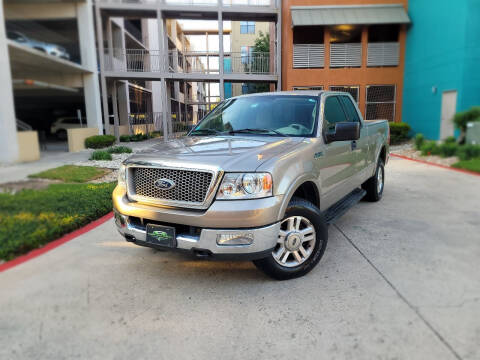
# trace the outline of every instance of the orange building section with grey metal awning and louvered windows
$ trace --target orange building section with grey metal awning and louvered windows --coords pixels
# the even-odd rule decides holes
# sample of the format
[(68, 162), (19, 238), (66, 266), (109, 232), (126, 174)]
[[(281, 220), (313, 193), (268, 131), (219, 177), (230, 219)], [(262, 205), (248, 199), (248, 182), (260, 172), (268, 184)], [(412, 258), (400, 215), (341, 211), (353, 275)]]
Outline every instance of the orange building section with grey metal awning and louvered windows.
[(367, 120), (401, 121), (407, 5), (284, 0), (282, 88), (347, 91)]

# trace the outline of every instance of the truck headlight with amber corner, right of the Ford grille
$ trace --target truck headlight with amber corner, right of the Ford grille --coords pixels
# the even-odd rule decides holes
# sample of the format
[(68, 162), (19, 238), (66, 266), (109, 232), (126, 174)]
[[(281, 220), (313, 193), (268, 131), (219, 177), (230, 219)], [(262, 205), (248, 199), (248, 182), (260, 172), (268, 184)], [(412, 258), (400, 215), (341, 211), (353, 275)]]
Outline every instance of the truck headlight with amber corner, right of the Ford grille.
[(272, 196), (272, 189), (272, 175), (269, 173), (227, 173), (220, 184), (217, 199), (264, 198)]

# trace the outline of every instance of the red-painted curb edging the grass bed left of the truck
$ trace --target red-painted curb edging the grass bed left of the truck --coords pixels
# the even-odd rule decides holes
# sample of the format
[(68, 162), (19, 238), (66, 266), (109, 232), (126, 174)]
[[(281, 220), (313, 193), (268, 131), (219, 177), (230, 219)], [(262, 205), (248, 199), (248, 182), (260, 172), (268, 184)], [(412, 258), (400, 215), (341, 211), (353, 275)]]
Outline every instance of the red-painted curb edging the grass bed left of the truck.
[(42, 254), (45, 254), (49, 252), (50, 250), (55, 249), (56, 247), (65, 244), (66, 242), (75, 239), (76, 237), (85, 234), (86, 232), (95, 229), (97, 226), (102, 225), (104, 222), (110, 220), (113, 218), (113, 212), (109, 212), (107, 215), (102, 216), (101, 218), (92, 221), (91, 223), (81, 227), (80, 229), (77, 229), (75, 231), (72, 231), (71, 233), (68, 233), (66, 235), (63, 235), (60, 239), (53, 240), (47, 244), (45, 244), (43, 247), (34, 249), (30, 251), (29, 253), (25, 255), (21, 255), (13, 260), (7, 261), (3, 264), (0, 264), (0, 272), (11, 269), (17, 265), (20, 265), (26, 261), (32, 260), (36, 258), (37, 256), (40, 256)]

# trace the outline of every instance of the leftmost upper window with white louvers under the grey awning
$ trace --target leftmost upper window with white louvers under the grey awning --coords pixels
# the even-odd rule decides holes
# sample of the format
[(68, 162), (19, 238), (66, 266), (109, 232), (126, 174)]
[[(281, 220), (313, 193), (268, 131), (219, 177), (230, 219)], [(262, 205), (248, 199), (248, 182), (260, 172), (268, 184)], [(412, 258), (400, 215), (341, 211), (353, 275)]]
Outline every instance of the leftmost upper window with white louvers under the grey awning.
[(293, 68), (323, 68), (325, 45), (322, 26), (297, 26), (293, 28)]

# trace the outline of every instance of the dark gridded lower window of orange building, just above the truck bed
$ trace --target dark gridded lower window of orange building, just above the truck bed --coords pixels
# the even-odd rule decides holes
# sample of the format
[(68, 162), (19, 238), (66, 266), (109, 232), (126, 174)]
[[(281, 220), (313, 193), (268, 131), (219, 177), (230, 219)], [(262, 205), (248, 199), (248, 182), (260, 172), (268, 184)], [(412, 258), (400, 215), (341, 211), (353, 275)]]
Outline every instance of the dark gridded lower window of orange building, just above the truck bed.
[(366, 90), (365, 119), (394, 121), (395, 85), (369, 85)]

